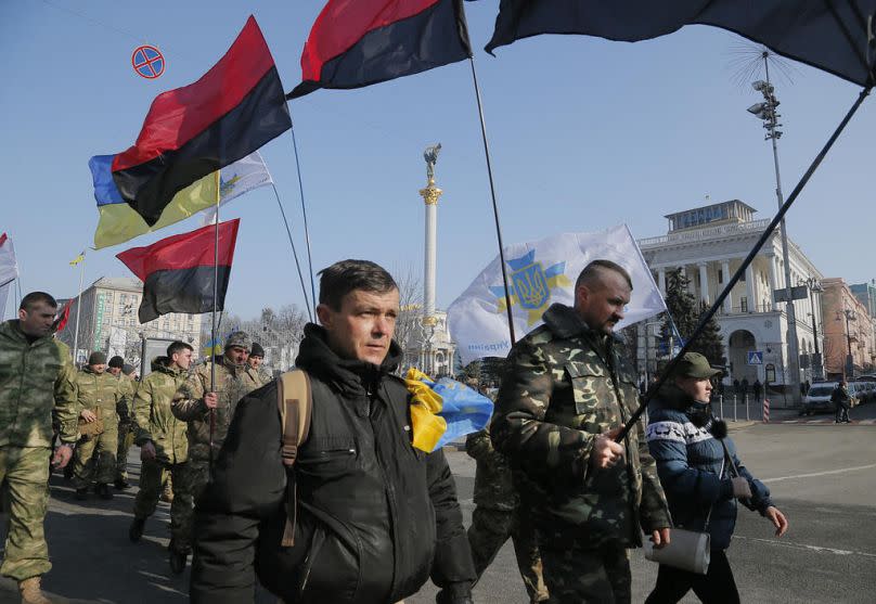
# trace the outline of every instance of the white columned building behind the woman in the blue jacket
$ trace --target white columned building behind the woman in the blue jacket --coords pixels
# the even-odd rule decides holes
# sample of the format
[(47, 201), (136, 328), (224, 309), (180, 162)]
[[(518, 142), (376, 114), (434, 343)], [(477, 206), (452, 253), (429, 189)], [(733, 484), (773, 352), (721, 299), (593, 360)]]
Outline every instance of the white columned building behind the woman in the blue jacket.
[[(666, 274), (681, 268), (690, 279), (691, 293), (711, 305), (730, 278), (769, 226), (769, 219), (756, 220), (757, 210), (739, 200), (696, 207), (669, 214), (665, 235), (639, 240), (639, 246), (654, 278), (666, 294)], [(719, 310), (718, 323), (724, 340), (730, 375), (725, 383), (747, 378), (765, 382), (775, 375), (775, 384), (790, 383), (788, 374), (787, 316), (785, 303), (775, 304), (773, 291), (786, 287), (782, 260), (782, 242), (777, 230), (763, 245), (743, 279)], [(791, 286), (817, 281), (821, 272), (789, 240)], [(822, 349), (821, 303), (817, 294), (795, 301), (797, 334), (800, 346), (800, 381), (813, 378), (813, 352)], [(813, 317), (814, 329), (813, 333)], [(641, 326), (640, 361), (648, 371), (656, 370), (659, 357), (656, 335), (659, 321)], [(749, 364), (748, 354), (762, 352), (763, 364)], [(640, 363), (640, 367), (641, 363)]]

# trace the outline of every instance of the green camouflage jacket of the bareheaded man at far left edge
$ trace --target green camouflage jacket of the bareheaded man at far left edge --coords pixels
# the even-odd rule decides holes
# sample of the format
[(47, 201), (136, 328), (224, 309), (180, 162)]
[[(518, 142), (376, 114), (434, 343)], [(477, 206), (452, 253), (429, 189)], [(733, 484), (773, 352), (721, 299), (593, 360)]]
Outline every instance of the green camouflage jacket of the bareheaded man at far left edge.
[(0, 323), (0, 447), (51, 447), (52, 414), (61, 440), (77, 438), (76, 370), (52, 336), (28, 342), (18, 320)]

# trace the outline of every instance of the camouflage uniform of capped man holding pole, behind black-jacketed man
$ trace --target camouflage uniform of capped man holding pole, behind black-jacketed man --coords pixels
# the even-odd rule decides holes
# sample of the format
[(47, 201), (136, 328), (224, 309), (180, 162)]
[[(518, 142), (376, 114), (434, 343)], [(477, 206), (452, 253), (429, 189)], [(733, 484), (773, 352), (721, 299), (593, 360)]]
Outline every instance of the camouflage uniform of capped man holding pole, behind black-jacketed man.
[[(171, 411), (179, 420), (189, 423), (189, 463), (186, 463), (184, 490), (193, 502), (204, 491), (209, 480), (210, 463), (210, 413), (204, 404), (204, 395), (210, 391), (210, 371), (216, 363), (216, 387), (212, 390), (218, 397), (215, 410), (212, 453), (216, 458), (228, 434), (228, 426), (234, 415), (237, 402), (260, 386), (258, 375), (248, 364), (232, 364), (224, 356), (212, 362), (199, 365), (183, 384), (177, 397), (170, 403)], [(173, 478), (176, 490), (173, 499), (183, 490), (178, 479)], [(188, 526), (180, 527), (180, 539), (175, 545), (180, 551), (191, 550), (191, 516)]]

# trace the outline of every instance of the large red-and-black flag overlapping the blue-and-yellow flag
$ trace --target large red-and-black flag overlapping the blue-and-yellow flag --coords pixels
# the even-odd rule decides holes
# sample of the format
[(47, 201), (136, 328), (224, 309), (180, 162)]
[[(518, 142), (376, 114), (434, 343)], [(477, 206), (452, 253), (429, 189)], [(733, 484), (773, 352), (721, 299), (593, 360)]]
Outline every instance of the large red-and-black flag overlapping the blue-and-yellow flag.
[(155, 98), (137, 143), (113, 158), (113, 180), (151, 227), (178, 191), (289, 128), (283, 85), (250, 16), (199, 80)]

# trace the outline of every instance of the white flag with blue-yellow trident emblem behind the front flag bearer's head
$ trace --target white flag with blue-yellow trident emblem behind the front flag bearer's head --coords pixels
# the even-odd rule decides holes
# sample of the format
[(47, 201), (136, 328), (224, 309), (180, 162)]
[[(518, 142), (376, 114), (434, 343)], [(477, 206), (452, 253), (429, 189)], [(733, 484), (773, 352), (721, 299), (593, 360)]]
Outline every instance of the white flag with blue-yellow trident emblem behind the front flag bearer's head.
[[(601, 233), (563, 233), (504, 248), (515, 335), (520, 338), (541, 324), (554, 303), (571, 306), (575, 281), (597, 258), (626, 268), (633, 280), (621, 329), (666, 310), (642, 252), (626, 224)], [(463, 364), (511, 350), (507, 300), (497, 256), (448, 309), (448, 327)]]

